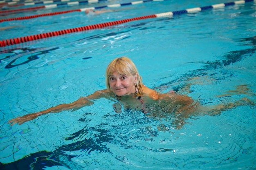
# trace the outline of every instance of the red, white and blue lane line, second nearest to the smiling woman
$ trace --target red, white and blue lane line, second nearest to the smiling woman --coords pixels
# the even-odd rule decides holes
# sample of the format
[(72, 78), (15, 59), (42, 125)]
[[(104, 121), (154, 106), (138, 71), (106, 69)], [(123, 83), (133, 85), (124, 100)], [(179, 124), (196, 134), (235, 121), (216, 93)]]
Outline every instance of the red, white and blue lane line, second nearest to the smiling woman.
[(53, 12), (53, 13), (44, 13), (44, 14), (38, 14), (38, 15), (30, 15), (30, 16), (24, 16), (24, 17), (16, 17), (16, 18), (6, 18), (0, 20), (0, 22), (5, 22), (5, 21), (13, 21), (13, 20), (27, 20), (31, 18), (38, 18), (38, 17), (43, 17), (43, 16), (51, 16), (51, 15), (59, 15), (63, 13), (70, 13), (70, 12), (83, 12), (86, 9), (102, 9), (106, 7), (121, 7), (121, 6), (126, 6), (126, 5), (134, 5), (134, 4), (140, 4), (144, 2), (152, 2), (152, 1), (164, 1), (164, 0), (141, 0), (141, 1), (134, 1), (134, 2), (129, 2), (129, 3), (124, 3), (124, 4), (110, 4), (110, 5), (105, 5), (105, 6), (100, 6), (100, 7), (88, 7), (88, 8), (82, 8), (82, 9), (74, 9), (74, 10), (68, 10), (68, 11), (59, 11), (59, 12)]

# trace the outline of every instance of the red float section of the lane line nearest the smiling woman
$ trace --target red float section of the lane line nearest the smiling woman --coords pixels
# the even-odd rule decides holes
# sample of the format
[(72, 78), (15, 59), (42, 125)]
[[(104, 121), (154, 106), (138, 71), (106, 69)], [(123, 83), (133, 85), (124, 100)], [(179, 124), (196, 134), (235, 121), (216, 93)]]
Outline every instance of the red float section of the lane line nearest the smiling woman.
[(86, 30), (90, 30), (90, 29), (98, 29), (98, 28), (103, 28), (103, 27), (107, 27), (107, 26), (123, 24), (125, 22), (130, 22), (130, 21), (135, 21), (135, 20), (143, 20), (143, 19), (147, 19), (147, 18), (156, 18), (156, 17), (157, 17), (157, 15), (155, 15), (155, 14), (147, 15), (147, 16), (130, 18), (130, 19), (125, 19), (125, 20), (117, 20), (117, 21), (105, 22), (105, 23), (101, 23), (101, 24), (81, 26), (81, 27), (72, 28), (72, 29), (65, 29), (65, 30), (53, 31), (53, 32), (48, 32), (48, 33), (41, 33), (41, 34), (37, 34), (37, 35), (29, 35), (29, 36), (20, 37), (20, 38), (13, 38), (13, 39), (9, 39), (9, 40), (0, 40), (0, 47), (10, 46), (10, 45), (14, 45), (14, 44), (20, 44), (23, 42), (29, 42), (29, 41), (33, 41), (33, 40), (39, 40), (39, 39), (43, 39), (43, 38), (49, 38), (49, 37), (68, 34), (68, 33), (86, 31)]

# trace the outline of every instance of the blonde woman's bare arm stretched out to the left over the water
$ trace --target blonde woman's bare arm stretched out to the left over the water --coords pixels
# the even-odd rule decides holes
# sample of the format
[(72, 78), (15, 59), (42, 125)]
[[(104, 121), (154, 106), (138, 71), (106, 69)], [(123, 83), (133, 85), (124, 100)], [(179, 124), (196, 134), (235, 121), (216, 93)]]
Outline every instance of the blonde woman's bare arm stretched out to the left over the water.
[(107, 94), (108, 94), (107, 90), (96, 91), (92, 95), (89, 95), (87, 97), (80, 97), (78, 100), (76, 100), (70, 104), (60, 104), (60, 105), (48, 108), (48, 109), (40, 111), (40, 112), (32, 113), (32, 114), (25, 115), (22, 117), (16, 117), (14, 119), (9, 120), (8, 123), (13, 122), (11, 124), (11, 126), (16, 123), (21, 125), (26, 121), (35, 119), (36, 117), (38, 117), (40, 115), (47, 114), (47, 113), (58, 113), (63, 110), (72, 110), (72, 111), (78, 110), (79, 108), (82, 108), (84, 106), (90, 106), (90, 105), (94, 104), (94, 102), (90, 101), (90, 99), (99, 99), (101, 97), (106, 97)]

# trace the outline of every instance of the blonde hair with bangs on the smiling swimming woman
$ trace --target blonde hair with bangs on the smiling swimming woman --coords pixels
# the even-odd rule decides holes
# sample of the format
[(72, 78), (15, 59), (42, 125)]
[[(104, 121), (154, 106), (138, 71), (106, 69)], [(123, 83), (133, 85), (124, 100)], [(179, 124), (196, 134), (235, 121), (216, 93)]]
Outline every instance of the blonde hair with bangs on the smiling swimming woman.
[(136, 73), (138, 74), (137, 82), (135, 83), (135, 88), (139, 95), (142, 95), (142, 77), (139, 75), (138, 70), (135, 64), (130, 60), (128, 57), (119, 57), (114, 59), (106, 69), (106, 86), (108, 91), (110, 92), (110, 85), (109, 85), (109, 76), (112, 75), (114, 72), (119, 74), (125, 75), (133, 75), (135, 76)]

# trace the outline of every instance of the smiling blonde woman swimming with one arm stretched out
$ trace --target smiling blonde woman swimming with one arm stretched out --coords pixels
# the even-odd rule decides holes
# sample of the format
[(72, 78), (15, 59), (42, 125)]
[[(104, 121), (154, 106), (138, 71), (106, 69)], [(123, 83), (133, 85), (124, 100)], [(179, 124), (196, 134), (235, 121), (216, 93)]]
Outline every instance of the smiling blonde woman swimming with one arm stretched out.
[[(195, 108), (191, 107), (193, 100), (186, 95), (177, 95), (175, 93), (159, 94), (155, 90), (146, 87), (142, 84), (142, 78), (139, 75), (135, 64), (127, 57), (116, 58), (110, 62), (106, 69), (106, 86), (107, 89), (96, 91), (87, 97), (80, 97), (78, 100), (70, 104), (60, 104), (40, 112), (17, 117), (9, 120), (8, 123), (12, 123), (12, 126), (16, 123), (22, 124), (47, 113), (57, 113), (62, 110), (78, 110), (84, 106), (94, 104), (91, 100), (99, 99), (101, 97), (118, 100), (126, 108), (139, 108), (144, 113), (148, 112), (146, 108), (144, 108), (144, 103), (149, 102), (150, 100), (172, 101), (171, 105), (173, 108), (176, 108), (176, 111), (177, 106), (179, 106), (179, 112), (184, 110), (189, 110), (189, 112), (191, 112), (194, 110), (191, 110), (191, 108)], [(120, 112), (121, 105), (119, 104), (118, 106), (119, 110), (116, 105), (114, 106), (116, 112)]]

